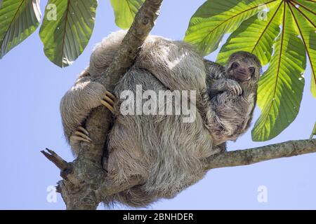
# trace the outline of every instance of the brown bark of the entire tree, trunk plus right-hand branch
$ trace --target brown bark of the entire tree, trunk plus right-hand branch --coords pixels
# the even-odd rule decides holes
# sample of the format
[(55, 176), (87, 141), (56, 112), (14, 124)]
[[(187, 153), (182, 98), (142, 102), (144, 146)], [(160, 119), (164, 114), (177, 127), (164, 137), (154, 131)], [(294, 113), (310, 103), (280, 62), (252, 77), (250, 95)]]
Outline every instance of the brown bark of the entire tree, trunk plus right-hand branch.
[[(110, 92), (114, 90), (119, 78), (133, 64), (141, 45), (154, 26), (161, 4), (162, 0), (146, 0), (138, 10), (117, 56), (100, 80)], [(92, 111), (86, 121), (86, 130), (90, 133), (93, 144), (83, 142), (79, 154), (73, 162), (62, 160), (51, 150), (41, 151), (60, 169), (62, 181), (58, 182), (57, 190), (61, 193), (67, 209), (96, 209), (105, 197), (138, 184), (136, 180), (133, 183), (126, 183), (126, 186), (115, 186), (107, 181), (107, 174), (102, 168), (101, 160), (104, 139), (107, 137), (111, 121), (111, 114), (104, 106)], [(249, 165), (275, 158), (315, 152), (316, 139), (287, 141), (281, 144), (213, 155), (206, 158), (205, 169)]]

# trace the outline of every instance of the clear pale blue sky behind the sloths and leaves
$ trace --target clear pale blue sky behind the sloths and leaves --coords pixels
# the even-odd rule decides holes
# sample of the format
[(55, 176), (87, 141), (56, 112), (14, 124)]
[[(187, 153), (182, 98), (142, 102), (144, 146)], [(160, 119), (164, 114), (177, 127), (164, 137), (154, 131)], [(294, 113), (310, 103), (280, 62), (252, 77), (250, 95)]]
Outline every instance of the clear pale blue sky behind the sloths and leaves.
[[(152, 34), (182, 39), (191, 15), (203, 2), (164, 1)], [(45, 3), (41, 1), (42, 12)], [(60, 195), (56, 202), (47, 200), (47, 188), (55, 186), (60, 176), (39, 151), (51, 148), (65, 160), (73, 160), (62, 134), (60, 99), (88, 65), (93, 46), (118, 29), (110, 1), (99, 1), (91, 40), (72, 66), (60, 69), (45, 57), (38, 30), (0, 60), (0, 209), (65, 209)], [(217, 52), (207, 58), (215, 60)], [(304, 76), (301, 109), (287, 130), (261, 143), (251, 141), (249, 130), (230, 142), (228, 149), (308, 139), (316, 102), (310, 94), (310, 64)], [(254, 121), (259, 114), (256, 109)], [(315, 161), (316, 153), (214, 169), (174, 199), (161, 200), (148, 209), (316, 209)], [(259, 186), (268, 189), (268, 202), (258, 202)]]

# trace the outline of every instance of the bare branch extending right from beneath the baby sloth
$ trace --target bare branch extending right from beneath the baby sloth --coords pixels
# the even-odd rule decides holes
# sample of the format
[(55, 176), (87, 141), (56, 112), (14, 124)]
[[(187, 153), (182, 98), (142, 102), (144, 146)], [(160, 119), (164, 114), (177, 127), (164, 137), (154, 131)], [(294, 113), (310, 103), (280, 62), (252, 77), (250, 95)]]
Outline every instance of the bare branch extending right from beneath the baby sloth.
[(316, 153), (316, 139), (286, 141), (279, 144), (229, 151), (206, 159), (206, 169), (251, 165), (256, 162)]

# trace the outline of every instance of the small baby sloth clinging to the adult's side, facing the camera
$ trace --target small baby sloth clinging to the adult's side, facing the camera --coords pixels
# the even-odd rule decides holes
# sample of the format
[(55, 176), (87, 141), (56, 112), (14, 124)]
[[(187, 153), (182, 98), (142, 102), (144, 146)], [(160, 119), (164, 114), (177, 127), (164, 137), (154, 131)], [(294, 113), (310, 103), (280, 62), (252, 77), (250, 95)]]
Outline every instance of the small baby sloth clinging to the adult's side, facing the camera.
[[(207, 61), (208, 92), (213, 113), (213, 145), (236, 140), (249, 128), (256, 106), (261, 63), (244, 51), (230, 55), (226, 66)], [(213, 125), (216, 124), (216, 125)]]

